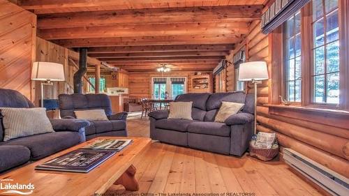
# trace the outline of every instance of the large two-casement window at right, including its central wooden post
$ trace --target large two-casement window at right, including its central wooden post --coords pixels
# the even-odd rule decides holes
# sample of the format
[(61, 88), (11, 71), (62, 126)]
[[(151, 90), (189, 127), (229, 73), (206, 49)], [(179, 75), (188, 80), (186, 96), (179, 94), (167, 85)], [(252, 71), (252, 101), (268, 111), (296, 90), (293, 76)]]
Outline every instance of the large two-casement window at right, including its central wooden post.
[[(338, 2), (312, 0), (283, 24), (285, 100), (326, 107), (339, 104)], [(302, 24), (311, 26), (301, 28)]]

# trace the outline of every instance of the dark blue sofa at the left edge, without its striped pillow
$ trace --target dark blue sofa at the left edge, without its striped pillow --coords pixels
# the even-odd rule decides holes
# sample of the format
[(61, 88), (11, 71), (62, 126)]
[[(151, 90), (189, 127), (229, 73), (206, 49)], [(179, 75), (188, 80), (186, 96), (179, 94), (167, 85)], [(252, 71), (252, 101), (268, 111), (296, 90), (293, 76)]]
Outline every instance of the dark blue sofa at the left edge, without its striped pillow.
[[(0, 89), (0, 107), (29, 108), (34, 105), (18, 91)], [(89, 126), (89, 121), (52, 119), (51, 123), (54, 133), (31, 135), (3, 142), (4, 130), (0, 115), (0, 172), (31, 160), (40, 160), (86, 140), (84, 131), (85, 127)]]

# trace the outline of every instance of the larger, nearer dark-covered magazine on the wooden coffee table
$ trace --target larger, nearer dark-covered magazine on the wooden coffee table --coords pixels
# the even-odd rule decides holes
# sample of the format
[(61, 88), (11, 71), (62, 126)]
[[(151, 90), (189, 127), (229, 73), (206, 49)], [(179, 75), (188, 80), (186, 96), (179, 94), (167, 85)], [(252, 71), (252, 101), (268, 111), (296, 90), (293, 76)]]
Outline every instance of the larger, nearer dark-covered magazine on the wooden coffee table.
[(91, 169), (101, 165), (101, 163), (114, 154), (114, 151), (77, 149), (70, 153), (66, 153), (63, 156), (49, 160), (41, 165), (37, 165), (35, 169), (87, 173), (91, 171)]

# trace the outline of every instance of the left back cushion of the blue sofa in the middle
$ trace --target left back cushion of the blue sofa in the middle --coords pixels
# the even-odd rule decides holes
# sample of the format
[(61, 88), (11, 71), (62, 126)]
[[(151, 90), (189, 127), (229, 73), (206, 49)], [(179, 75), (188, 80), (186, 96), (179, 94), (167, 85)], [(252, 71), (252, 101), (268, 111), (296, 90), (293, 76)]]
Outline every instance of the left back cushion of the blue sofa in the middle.
[(193, 102), (191, 117), (196, 121), (204, 121), (206, 115), (206, 102), (210, 93), (185, 93), (177, 96), (174, 101)]

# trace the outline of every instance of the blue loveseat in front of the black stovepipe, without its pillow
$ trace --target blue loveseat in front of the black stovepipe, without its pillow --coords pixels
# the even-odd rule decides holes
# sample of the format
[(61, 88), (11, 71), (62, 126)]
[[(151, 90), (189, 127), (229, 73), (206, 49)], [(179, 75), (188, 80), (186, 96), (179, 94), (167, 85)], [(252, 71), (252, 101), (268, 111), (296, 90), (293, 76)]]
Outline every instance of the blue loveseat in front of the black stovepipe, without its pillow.
[(103, 109), (108, 121), (89, 121), (86, 128), (86, 138), (91, 140), (100, 136), (127, 136), (126, 118), (127, 112), (112, 114), (110, 98), (105, 94), (61, 94), (59, 98), (59, 110), (61, 118), (75, 119), (75, 110)]

